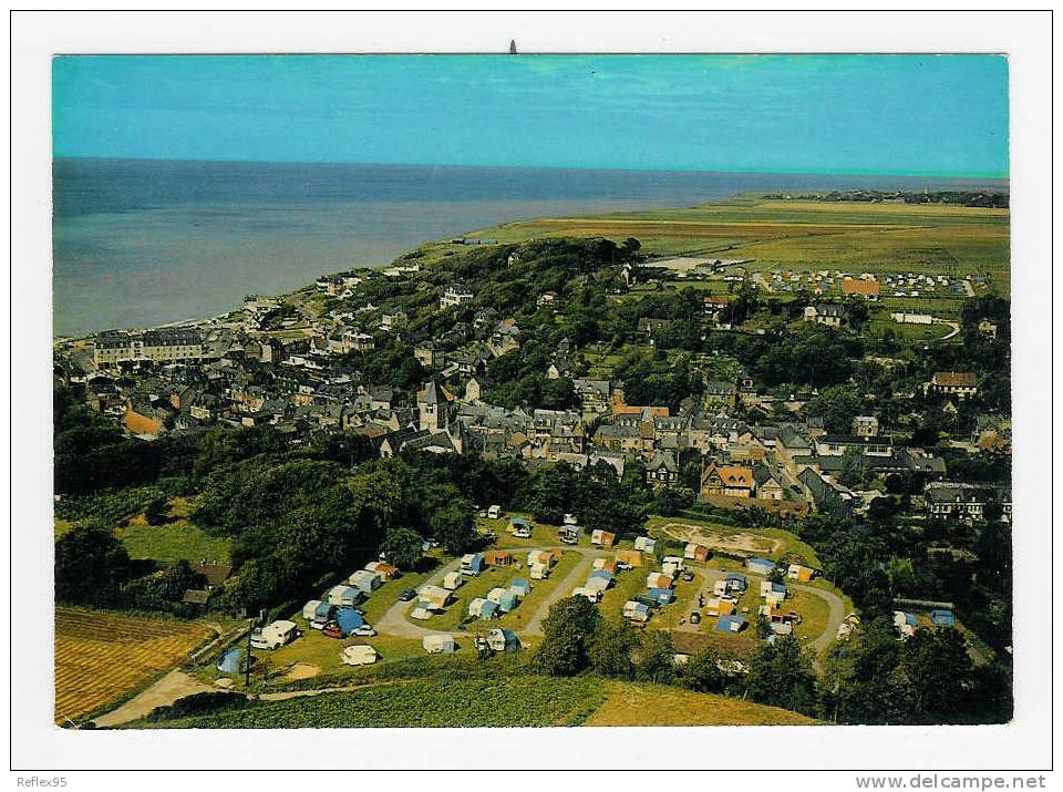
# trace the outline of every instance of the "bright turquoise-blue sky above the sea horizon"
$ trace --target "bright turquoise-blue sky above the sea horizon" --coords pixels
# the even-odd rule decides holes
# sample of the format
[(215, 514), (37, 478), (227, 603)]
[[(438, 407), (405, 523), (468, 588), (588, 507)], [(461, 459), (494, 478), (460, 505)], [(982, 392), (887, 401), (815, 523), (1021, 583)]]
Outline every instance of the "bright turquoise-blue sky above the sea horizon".
[(54, 59), (58, 156), (1008, 175), (994, 55)]

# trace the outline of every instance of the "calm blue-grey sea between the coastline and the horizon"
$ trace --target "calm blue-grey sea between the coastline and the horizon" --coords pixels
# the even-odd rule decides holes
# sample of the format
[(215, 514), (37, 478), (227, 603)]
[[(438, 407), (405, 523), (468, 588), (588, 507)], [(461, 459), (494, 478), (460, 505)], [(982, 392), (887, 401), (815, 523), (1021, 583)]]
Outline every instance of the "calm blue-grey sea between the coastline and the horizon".
[(248, 294), (384, 266), (517, 219), (695, 206), (751, 191), (1001, 188), (898, 176), (56, 158), (53, 332), (218, 316)]

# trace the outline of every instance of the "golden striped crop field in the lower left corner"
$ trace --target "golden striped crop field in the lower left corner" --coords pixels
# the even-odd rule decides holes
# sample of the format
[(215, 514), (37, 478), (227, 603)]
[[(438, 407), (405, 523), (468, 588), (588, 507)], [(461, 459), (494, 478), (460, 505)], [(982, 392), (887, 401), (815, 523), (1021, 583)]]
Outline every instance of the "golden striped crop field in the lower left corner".
[(196, 623), (55, 608), (55, 722), (136, 690), (209, 635)]

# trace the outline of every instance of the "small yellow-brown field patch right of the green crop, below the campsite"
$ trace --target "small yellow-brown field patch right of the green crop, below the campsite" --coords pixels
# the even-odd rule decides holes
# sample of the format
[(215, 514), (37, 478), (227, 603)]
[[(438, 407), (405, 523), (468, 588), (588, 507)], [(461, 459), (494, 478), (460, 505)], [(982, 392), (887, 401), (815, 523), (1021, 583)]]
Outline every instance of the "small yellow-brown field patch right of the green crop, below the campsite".
[(606, 702), (584, 726), (813, 726), (812, 718), (741, 699), (661, 685), (606, 682)]

